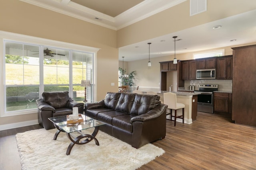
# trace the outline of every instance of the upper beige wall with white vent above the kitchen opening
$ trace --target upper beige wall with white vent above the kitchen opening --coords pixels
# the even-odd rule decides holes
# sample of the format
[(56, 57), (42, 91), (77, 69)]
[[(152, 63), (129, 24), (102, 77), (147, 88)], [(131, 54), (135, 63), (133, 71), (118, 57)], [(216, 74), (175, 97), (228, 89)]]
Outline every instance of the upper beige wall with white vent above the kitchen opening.
[(190, 0), (117, 31), (123, 47), (256, 9), (255, 0), (208, 0), (207, 11), (190, 17)]

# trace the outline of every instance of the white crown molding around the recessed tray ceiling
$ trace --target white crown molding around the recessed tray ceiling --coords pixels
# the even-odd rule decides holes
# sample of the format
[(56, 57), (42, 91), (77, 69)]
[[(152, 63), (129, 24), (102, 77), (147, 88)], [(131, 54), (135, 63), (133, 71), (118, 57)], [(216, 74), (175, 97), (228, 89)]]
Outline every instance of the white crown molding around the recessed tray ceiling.
[(171, 8), (186, 0), (144, 0), (116, 17), (92, 10), (70, 0), (20, 0), (47, 10), (52, 10), (73, 18), (87, 21), (102, 27), (118, 30), (158, 12)]

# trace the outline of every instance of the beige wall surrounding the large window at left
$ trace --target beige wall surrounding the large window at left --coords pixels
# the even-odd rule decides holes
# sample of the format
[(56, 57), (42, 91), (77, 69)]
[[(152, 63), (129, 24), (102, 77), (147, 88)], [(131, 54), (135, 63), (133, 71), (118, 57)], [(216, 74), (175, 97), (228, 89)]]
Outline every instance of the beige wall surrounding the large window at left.
[[(118, 89), (116, 31), (19, 0), (0, 2), (0, 30), (100, 48), (96, 60), (96, 100)], [(2, 62), (2, 54), (0, 62)], [(115, 86), (111, 86), (114, 82)], [(37, 113), (0, 117), (0, 125), (37, 119)]]

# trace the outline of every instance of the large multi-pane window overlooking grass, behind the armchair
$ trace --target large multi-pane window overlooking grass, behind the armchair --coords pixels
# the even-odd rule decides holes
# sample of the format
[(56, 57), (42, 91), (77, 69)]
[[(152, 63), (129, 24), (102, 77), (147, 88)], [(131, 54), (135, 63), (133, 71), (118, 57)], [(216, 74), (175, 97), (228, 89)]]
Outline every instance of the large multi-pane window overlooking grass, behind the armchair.
[[(35, 113), (36, 100), (42, 92), (69, 91), (72, 98), (83, 102), (81, 80), (90, 80), (93, 84), (94, 53), (8, 40), (3, 42), (6, 116)], [(86, 88), (89, 100), (94, 100), (93, 89)]]

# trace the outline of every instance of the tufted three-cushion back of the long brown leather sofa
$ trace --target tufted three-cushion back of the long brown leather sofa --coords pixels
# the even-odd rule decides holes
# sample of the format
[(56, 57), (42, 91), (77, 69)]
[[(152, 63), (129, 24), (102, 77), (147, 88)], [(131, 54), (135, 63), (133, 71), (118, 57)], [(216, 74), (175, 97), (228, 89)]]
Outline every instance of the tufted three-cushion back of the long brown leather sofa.
[(141, 115), (160, 104), (160, 96), (108, 92), (104, 99), (107, 108)]

